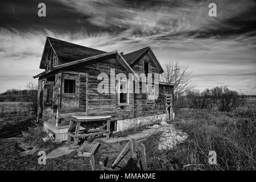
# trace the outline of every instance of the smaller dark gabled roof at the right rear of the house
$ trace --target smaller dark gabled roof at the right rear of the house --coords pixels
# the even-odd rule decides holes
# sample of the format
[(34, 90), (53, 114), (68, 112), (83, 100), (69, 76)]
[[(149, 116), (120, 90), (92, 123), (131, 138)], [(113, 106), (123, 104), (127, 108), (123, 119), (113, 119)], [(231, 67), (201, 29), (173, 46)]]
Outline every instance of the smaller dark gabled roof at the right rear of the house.
[(153, 55), (153, 56), (151, 56), (151, 58), (154, 61), (156, 67), (158, 67), (160, 72), (163, 73), (164, 69), (163, 69), (162, 65), (159, 63), (158, 59), (155, 57), (154, 52), (151, 50), (151, 48), (149, 46), (144, 47), (144, 48), (139, 49), (134, 52), (127, 53), (126, 55), (123, 55), (123, 58), (131, 66), (131, 68), (133, 68), (133, 65), (136, 64), (136, 61), (141, 59), (141, 57), (144, 56), (144, 54), (147, 53), (148, 51), (150, 51), (151, 55)]

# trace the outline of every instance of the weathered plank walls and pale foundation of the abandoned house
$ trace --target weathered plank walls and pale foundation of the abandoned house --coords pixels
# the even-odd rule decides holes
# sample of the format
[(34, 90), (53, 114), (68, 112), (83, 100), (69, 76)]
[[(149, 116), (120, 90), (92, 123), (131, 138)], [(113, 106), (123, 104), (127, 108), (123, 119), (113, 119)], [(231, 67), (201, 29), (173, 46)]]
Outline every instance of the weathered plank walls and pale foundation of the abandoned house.
[[(150, 62), (150, 72), (158, 73), (151, 60), (150, 54), (146, 53), (133, 69), (137, 73), (143, 73), (143, 60)], [(123, 131), (130, 127), (150, 124), (152, 121), (164, 121), (166, 118), (165, 94), (173, 93), (173, 86), (159, 85), (159, 97), (152, 104), (147, 104), (146, 93), (129, 93), (129, 105), (118, 105), (117, 93), (98, 93), (98, 84), (102, 80), (97, 77), (100, 73), (106, 73), (109, 77), (109, 91), (115, 85), (110, 85), (110, 69), (115, 69), (115, 76), (124, 73), (129, 77), (129, 72), (119, 63), (117, 56), (109, 56), (93, 61), (88, 61), (79, 65), (74, 65), (68, 69), (63, 69), (56, 73), (54, 80), (53, 105), (43, 106), (42, 120), (46, 122), (46, 131), (56, 130), (56, 138), (64, 139), (69, 125), (71, 115), (112, 115), (112, 121), (117, 121), (117, 131)], [(81, 87), (81, 76), (87, 76), (87, 85)], [(64, 78), (76, 80), (76, 93), (74, 97), (84, 98), (84, 103), (80, 104), (77, 99), (69, 98), (63, 93)], [(42, 78), (40, 78), (42, 79)], [(117, 81), (115, 82), (117, 84)], [(80, 95), (79, 90), (86, 90)], [(86, 99), (85, 99), (86, 96)], [(87, 101), (87, 105), (85, 104)], [(53, 106), (56, 106), (53, 109)], [(61, 121), (61, 123), (60, 123)], [(65, 127), (65, 128), (63, 128)], [(54, 129), (54, 130), (53, 130)], [(64, 130), (65, 129), (65, 130)], [(60, 131), (63, 133), (60, 133)]]

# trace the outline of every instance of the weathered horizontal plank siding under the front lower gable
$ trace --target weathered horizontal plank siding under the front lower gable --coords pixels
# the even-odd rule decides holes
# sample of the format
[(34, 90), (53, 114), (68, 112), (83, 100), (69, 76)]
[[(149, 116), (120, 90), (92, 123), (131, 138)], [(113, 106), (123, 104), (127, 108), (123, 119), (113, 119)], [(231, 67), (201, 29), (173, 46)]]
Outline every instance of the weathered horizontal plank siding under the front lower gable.
[[(98, 60), (88, 61), (88, 63), (80, 64), (78, 67), (73, 67), (68, 70), (88, 74), (88, 115), (112, 115), (112, 120), (133, 118), (133, 93), (129, 94), (129, 105), (118, 105), (117, 93), (110, 93), (110, 87), (115, 86), (110, 85), (110, 69), (115, 69), (115, 76), (118, 73), (124, 73), (127, 78), (129, 76), (129, 72), (119, 63), (116, 55), (109, 56), (108, 59), (101, 58)], [(100, 73), (106, 73), (109, 76), (109, 93), (98, 93), (98, 84), (102, 81), (97, 80)]]

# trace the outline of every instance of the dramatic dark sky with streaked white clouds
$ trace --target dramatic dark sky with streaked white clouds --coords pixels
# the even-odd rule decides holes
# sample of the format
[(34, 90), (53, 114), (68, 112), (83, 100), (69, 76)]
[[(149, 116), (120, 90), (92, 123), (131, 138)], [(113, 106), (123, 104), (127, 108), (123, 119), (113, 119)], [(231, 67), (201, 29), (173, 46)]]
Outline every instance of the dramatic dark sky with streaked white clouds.
[[(46, 4), (46, 17), (38, 4)], [(209, 17), (209, 3), (217, 17)], [(1, 0), (0, 92), (42, 72), (46, 36), (129, 53), (150, 46), (160, 63), (179, 60), (196, 89), (228, 85), (256, 94), (256, 1)], [(35, 80), (36, 81), (36, 80)]]

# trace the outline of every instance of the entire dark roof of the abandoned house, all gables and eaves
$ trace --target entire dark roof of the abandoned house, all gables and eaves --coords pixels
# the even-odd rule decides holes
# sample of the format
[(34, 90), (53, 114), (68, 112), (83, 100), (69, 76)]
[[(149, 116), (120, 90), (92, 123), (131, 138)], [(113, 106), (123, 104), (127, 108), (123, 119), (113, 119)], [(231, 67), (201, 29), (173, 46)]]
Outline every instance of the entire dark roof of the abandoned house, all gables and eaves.
[(56, 54), (56, 56), (58, 56), (64, 61), (64, 64), (58, 65), (47, 71), (44, 71), (39, 75), (34, 76), (34, 78), (48, 75), (48, 73), (55, 72), (56, 70), (59, 70), (61, 68), (69, 67), (71, 65), (75, 65), (79, 63), (84, 63), (85, 61), (89, 61), (89, 60), (97, 59), (98, 57), (104, 57), (106, 55), (113, 55), (113, 54), (117, 54), (117, 58), (119, 62), (123, 65), (123, 67), (128, 69), (131, 73), (134, 73), (135, 77), (137, 77), (137, 75), (131, 68), (132, 64), (134, 64), (135, 61), (139, 60), (141, 56), (143, 56), (144, 53), (146, 53), (148, 50), (150, 50), (151, 57), (154, 63), (156, 64), (156, 66), (160, 69), (160, 72), (163, 72), (163, 68), (161, 64), (156, 59), (150, 47), (144, 47), (137, 51), (127, 53), (126, 55), (120, 55), (117, 51), (104, 52), (98, 49), (80, 46), (77, 44), (65, 42), (63, 40), (51, 38), (48, 36), (46, 38), (46, 43), (44, 45), (44, 51), (43, 51), (39, 68), (42, 68), (42, 69), (46, 68), (46, 59), (47, 59), (46, 51), (49, 51), (49, 48), (51, 47), (53, 49), (53, 52)]

